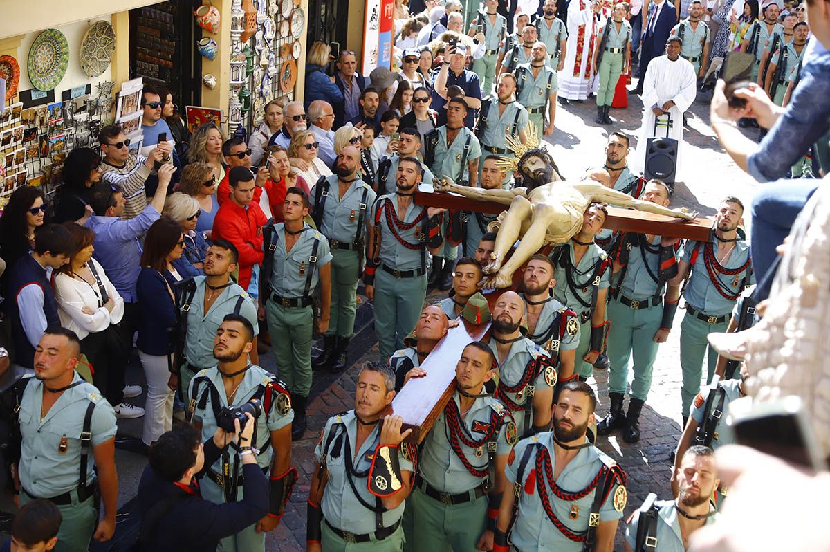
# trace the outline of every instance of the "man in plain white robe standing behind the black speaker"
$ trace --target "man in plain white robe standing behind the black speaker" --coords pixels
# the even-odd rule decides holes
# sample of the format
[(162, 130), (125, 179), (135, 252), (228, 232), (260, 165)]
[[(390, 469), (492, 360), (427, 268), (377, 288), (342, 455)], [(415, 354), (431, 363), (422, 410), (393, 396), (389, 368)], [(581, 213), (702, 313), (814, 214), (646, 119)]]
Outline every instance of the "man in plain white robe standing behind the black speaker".
[[(670, 37), (666, 55), (655, 57), (646, 70), (642, 86), (642, 129), (637, 142), (637, 158), (642, 164), (646, 161), (648, 139), (659, 136), (677, 140), (677, 168), (681, 165), (683, 113), (695, 101), (697, 93), (695, 66), (680, 56), (681, 46), (678, 37)], [(669, 120), (670, 127), (663, 125)]]

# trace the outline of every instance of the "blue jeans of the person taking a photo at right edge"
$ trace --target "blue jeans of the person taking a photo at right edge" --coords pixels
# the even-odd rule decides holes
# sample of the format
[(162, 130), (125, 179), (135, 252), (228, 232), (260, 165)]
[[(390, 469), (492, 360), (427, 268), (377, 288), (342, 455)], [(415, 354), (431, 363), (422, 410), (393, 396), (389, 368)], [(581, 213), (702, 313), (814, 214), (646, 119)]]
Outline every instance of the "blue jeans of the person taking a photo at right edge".
[(813, 178), (784, 178), (767, 184), (755, 194), (750, 247), (758, 281), (769, 271), (778, 256), (775, 247), (784, 243), (795, 218), (820, 183), (821, 180)]

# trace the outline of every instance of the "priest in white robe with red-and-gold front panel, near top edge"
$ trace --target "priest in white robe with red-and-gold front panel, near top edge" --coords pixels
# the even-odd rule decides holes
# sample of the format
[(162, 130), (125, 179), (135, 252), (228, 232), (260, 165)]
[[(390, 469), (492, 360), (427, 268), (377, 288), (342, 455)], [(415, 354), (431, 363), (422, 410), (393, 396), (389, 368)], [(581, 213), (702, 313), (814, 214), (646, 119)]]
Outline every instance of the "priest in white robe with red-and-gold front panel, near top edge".
[(568, 48), (559, 71), (559, 97), (585, 100), (593, 85), (593, 51), (602, 10), (600, 0), (571, 0), (568, 4)]

